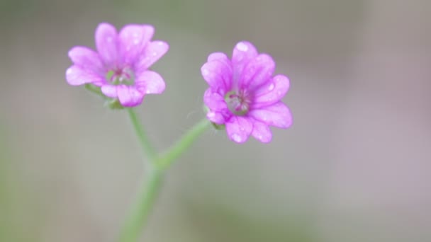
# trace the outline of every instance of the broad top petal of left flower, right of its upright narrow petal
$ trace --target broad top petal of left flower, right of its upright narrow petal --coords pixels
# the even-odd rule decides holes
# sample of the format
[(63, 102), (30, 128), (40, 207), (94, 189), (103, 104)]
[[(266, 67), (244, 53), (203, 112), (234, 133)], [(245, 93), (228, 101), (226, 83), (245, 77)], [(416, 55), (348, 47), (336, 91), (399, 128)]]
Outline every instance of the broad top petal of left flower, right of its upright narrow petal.
[(142, 54), (145, 45), (154, 35), (152, 25), (125, 25), (119, 35), (120, 52), (126, 64), (132, 64)]

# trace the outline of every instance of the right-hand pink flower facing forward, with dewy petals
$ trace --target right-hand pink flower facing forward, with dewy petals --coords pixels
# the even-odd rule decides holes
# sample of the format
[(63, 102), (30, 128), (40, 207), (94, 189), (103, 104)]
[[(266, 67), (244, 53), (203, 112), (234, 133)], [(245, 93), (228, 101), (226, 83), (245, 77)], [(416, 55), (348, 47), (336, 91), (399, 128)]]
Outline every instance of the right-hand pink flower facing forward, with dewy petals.
[(273, 76), (275, 63), (268, 54), (259, 54), (250, 42), (239, 42), (232, 59), (215, 52), (201, 68), (210, 86), (203, 101), (206, 117), (216, 125), (225, 125), (234, 142), (246, 142), (250, 134), (260, 142), (270, 142), (269, 125), (287, 128), (292, 115), (281, 102), (289, 90), (289, 79)]

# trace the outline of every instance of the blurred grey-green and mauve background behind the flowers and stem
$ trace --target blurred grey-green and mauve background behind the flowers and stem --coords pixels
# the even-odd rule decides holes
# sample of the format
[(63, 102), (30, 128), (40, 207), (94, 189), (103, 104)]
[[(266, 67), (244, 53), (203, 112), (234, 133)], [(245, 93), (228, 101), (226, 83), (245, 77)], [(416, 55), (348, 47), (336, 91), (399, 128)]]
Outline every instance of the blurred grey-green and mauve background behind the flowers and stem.
[[(115, 241), (142, 178), (128, 116), (68, 86), (100, 22), (151, 23), (162, 150), (200, 120), (211, 52), (249, 40), (291, 79), (271, 144), (207, 132), (142, 241), (431, 241), (431, 1), (1, 0), (0, 241)], [(174, 120), (174, 122), (172, 122)]]

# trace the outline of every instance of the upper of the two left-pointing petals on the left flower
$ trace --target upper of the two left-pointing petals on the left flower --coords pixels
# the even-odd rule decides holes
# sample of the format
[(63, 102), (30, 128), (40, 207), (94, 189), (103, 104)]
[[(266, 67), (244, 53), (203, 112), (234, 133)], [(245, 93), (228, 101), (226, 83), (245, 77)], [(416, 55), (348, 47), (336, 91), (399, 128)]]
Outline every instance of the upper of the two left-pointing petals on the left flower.
[(69, 50), (69, 58), (73, 64), (82, 69), (94, 71), (95, 74), (103, 75), (103, 63), (94, 50), (88, 47), (76, 46)]

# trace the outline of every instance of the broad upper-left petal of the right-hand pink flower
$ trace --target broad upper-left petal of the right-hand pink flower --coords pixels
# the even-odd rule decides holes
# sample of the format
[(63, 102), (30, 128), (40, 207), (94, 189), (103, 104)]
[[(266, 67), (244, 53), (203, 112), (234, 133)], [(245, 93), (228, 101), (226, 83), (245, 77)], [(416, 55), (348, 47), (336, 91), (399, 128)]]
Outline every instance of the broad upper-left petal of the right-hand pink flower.
[(201, 67), (201, 74), (208, 85), (222, 95), (232, 86), (232, 68), (229, 62), (219, 59), (206, 62)]

